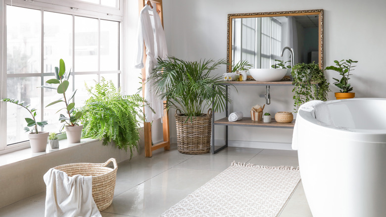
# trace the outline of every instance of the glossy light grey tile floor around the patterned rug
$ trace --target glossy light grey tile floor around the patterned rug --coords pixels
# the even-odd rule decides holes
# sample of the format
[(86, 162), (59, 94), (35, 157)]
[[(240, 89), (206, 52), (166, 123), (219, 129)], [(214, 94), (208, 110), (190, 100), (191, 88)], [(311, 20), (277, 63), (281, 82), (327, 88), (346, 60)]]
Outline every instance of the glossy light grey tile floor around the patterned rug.
[[(102, 217), (157, 217), (233, 162), (298, 166), (295, 151), (229, 147), (211, 155), (184, 155), (172, 145), (118, 164), (114, 200)], [(0, 209), (1, 217), (44, 217), (45, 192)], [(279, 217), (312, 217), (302, 184)]]

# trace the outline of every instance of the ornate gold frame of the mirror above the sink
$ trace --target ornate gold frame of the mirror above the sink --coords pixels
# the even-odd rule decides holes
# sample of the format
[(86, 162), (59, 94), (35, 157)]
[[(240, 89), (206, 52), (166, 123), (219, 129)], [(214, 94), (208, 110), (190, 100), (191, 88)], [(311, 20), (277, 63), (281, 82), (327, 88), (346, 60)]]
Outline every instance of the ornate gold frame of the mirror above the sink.
[[(315, 10), (294, 10), (278, 12), (258, 12), (258, 13), (234, 13), (228, 14), (227, 25), (227, 61), (232, 63), (232, 19), (250, 18), (250, 17), (277, 17), (277, 16), (302, 16), (302, 15), (319, 15), (319, 67), (323, 69), (323, 9)], [(232, 65), (227, 67), (227, 71), (232, 71)]]

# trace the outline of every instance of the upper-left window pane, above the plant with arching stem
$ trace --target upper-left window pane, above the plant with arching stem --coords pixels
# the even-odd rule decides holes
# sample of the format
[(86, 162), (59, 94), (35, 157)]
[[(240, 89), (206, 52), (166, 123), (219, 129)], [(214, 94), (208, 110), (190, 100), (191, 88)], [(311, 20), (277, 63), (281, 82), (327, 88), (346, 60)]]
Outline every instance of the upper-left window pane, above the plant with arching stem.
[(7, 73), (40, 73), (41, 12), (7, 5)]

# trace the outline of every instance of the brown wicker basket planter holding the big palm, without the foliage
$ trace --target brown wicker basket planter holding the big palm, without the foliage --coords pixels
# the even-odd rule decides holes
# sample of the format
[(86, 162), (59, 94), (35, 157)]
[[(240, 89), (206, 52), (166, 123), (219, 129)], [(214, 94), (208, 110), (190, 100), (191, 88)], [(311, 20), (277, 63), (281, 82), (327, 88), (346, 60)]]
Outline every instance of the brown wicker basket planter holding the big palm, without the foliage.
[(207, 114), (193, 117), (174, 114), (177, 127), (177, 149), (180, 153), (190, 155), (205, 154), (210, 151), (212, 133), (212, 109)]

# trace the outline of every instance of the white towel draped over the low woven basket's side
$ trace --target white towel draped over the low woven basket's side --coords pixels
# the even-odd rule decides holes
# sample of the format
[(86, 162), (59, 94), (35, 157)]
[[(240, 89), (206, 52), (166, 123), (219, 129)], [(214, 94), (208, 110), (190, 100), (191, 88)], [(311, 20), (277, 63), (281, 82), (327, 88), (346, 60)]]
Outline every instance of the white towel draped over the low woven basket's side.
[(50, 168), (43, 179), (47, 185), (45, 217), (102, 217), (93, 199), (93, 176), (69, 177)]

